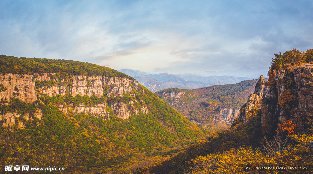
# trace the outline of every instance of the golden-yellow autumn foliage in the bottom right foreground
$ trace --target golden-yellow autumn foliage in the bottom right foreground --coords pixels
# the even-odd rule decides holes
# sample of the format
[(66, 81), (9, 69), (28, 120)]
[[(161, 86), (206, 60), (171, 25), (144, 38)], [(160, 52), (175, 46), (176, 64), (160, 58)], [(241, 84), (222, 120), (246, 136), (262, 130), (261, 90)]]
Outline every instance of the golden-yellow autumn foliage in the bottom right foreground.
[[(286, 122), (286, 124), (290, 124)], [(211, 153), (206, 156), (198, 156), (191, 161), (191, 167), (188, 174), (199, 173), (311, 173), (313, 167), (313, 158), (311, 157), (309, 146), (313, 141), (312, 134), (292, 135), (290, 138), (295, 142), (293, 145), (286, 144), (286, 141), (275, 139), (269, 141), (269, 145), (284, 145), (279, 150), (270, 148), (272, 154), (264, 153), (259, 150), (253, 150), (250, 147), (241, 147), (229, 151)], [(281, 141), (281, 142), (280, 142)], [(276, 143), (276, 144), (271, 144)], [(259, 166), (249, 170), (244, 166)], [(260, 167), (283, 166), (278, 169), (261, 169)], [(288, 166), (288, 167), (287, 167)], [(292, 167), (303, 166), (305, 170), (295, 170)], [(284, 168), (285, 167), (285, 168)]]

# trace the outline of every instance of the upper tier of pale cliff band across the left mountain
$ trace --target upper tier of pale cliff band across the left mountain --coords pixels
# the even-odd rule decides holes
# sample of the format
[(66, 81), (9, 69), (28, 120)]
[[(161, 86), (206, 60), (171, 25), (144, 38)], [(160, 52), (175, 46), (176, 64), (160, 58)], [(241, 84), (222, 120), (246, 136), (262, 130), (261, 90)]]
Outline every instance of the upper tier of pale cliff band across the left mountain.
[[(25, 102), (34, 102), (37, 100), (35, 81), (49, 81), (51, 80), (50, 75), (55, 75), (55, 73), (34, 75), (0, 74), (0, 83), (7, 88), (7, 90), (0, 92), (0, 97), (3, 100), (15, 97)], [(100, 98), (103, 96), (103, 88), (108, 85), (114, 85), (108, 93), (109, 96), (117, 94), (121, 97), (123, 94), (131, 92), (132, 89), (138, 91), (138, 82), (134, 80), (102, 76), (74, 76), (72, 87), (69, 89), (66, 89), (64, 85), (44, 86), (37, 89), (40, 93), (48, 94), (50, 97), (56, 94), (64, 95), (68, 91), (72, 96), (80, 94), (81, 96), (88, 95), (91, 97), (95, 95)]]

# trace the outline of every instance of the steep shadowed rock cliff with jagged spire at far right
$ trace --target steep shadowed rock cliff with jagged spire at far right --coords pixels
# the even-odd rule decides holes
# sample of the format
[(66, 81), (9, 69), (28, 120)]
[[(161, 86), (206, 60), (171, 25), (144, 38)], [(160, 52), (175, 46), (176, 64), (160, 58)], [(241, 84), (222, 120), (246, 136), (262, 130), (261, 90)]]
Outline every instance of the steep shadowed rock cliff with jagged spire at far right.
[[(260, 77), (247, 101), (246, 114), (253, 107), (261, 109), (264, 134), (273, 133), (279, 123), (290, 120), (302, 131), (305, 121), (313, 115), (313, 68), (312, 64), (298, 64), (283, 70), (275, 70), (268, 82)], [(244, 121), (244, 115), (241, 115)]]

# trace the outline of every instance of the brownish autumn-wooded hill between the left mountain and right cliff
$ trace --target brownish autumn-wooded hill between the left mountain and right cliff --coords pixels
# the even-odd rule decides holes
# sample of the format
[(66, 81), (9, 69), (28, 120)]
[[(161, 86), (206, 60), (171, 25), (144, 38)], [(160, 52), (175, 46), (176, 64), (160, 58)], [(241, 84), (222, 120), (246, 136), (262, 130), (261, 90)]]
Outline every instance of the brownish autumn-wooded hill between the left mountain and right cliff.
[(257, 80), (245, 80), (192, 90), (163, 89), (155, 94), (190, 121), (211, 129), (227, 128), (225, 124), (232, 124), (239, 116), (240, 107), (256, 83)]

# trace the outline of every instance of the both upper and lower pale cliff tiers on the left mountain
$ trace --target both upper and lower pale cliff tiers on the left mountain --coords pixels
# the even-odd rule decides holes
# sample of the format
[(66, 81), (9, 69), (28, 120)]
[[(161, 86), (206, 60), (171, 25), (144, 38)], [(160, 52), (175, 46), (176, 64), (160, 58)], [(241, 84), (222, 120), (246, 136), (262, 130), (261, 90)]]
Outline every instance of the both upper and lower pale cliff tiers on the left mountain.
[[(55, 73), (49, 74), (0, 74), (0, 84), (5, 90), (0, 91), (1, 101), (10, 101), (10, 98), (19, 98), (24, 102), (35, 102), (40, 96), (47, 94), (48, 96), (56, 96), (57, 94), (65, 95), (71, 94), (75, 97), (77, 94), (89, 97), (96, 96), (98, 98), (106, 95), (107, 98), (119, 98), (96, 106), (79, 106), (74, 104), (62, 104), (57, 107), (64, 114), (73, 112), (75, 114), (85, 113), (91, 114), (95, 117), (107, 116), (110, 118), (109, 110), (119, 118), (129, 118), (131, 114), (138, 114), (141, 111), (144, 114), (148, 113), (148, 109), (143, 101), (121, 101), (123, 95), (136, 97), (138, 92), (138, 82), (121, 77), (105, 77), (105, 76), (73, 76), (67, 81), (55, 80)], [(52, 85), (37, 85), (44, 82), (49, 82)], [(142, 92), (142, 91), (139, 91)], [(138, 104), (141, 103), (141, 104)], [(41, 111), (36, 112), (35, 117), (41, 118)], [(3, 121), (3, 126), (13, 125), (15, 123), (14, 117), (19, 117), (16, 113), (2, 114), (0, 121)], [(28, 116), (23, 116), (26, 119)], [(22, 125), (21, 125), (22, 126)]]

